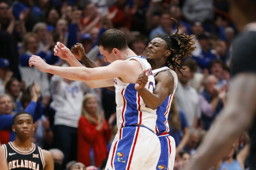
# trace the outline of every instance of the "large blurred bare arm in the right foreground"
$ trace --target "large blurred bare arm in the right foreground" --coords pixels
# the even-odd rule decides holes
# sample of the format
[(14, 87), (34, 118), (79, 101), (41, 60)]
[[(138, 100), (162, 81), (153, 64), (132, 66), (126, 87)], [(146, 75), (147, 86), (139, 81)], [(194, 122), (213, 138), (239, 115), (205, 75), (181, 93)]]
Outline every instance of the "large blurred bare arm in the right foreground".
[(252, 125), (255, 101), (256, 74), (237, 75), (221, 117), (214, 122), (185, 170), (206, 170), (224, 158), (235, 140)]

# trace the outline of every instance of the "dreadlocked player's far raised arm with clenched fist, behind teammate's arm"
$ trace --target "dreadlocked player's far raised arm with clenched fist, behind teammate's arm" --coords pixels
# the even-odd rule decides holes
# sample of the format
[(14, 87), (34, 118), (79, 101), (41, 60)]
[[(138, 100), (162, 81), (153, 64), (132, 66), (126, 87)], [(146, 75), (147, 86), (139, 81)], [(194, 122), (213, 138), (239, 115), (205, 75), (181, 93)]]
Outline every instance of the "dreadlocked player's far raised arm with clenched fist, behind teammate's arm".
[[(81, 43), (76, 43), (74, 47), (71, 49), (71, 52), (78, 60), (82, 61), (82, 63), (84, 63), (86, 67), (88, 68), (99, 67), (96, 63), (94, 63), (94, 61), (88, 58), (88, 56), (85, 54), (85, 49)], [(106, 87), (106, 89), (115, 91), (115, 86)]]

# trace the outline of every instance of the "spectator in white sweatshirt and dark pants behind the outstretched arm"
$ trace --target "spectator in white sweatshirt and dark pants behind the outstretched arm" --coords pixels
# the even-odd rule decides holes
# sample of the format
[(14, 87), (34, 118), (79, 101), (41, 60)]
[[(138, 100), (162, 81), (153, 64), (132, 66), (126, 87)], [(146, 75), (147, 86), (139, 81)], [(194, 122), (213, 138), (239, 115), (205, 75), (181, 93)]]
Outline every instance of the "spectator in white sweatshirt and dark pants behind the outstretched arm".
[(83, 82), (71, 81), (56, 75), (51, 78), (50, 86), (53, 98), (50, 107), (55, 111), (53, 147), (64, 153), (63, 167), (65, 167), (66, 163), (77, 159), (77, 127), (82, 98), (84, 93), (91, 89)]

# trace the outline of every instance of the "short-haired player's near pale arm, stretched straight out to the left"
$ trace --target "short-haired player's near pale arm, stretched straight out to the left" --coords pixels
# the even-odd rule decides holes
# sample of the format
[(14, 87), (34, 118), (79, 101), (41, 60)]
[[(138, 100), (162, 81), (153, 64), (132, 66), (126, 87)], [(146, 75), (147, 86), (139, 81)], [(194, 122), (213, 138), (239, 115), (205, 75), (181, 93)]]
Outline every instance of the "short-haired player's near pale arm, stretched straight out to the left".
[[(51, 66), (44, 62), (39, 56), (32, 55), (29, 58), (29, 66), (35, 66), (42, 72), (49, 72), (54, 75), (74, 81), (97, 81), (107, 80), (95, 84), (95, 87), (112, 86), (116, 77), (121, 78), (125, 83), (135, 83), (136, 77), (142, 72), (141, 64), (138, 61), (117, 60), (104, 67), (85, 68), (85, 67), (59, 67)], [(111, 81), (109, 81), (111, 80)]]

